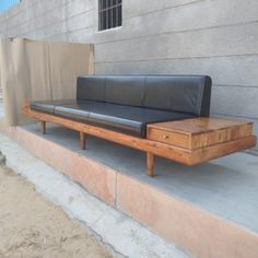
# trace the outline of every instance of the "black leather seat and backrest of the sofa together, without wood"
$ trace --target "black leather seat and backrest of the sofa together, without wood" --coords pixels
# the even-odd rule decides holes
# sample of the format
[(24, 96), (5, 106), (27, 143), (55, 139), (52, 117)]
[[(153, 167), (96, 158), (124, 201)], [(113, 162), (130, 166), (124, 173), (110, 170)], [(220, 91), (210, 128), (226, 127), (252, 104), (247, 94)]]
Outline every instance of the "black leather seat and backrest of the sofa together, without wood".
[(145, 138), (148, 124), (208, 117), (211, 84), (206, 75), (83, 75), (75, 99), (31, 108)]

